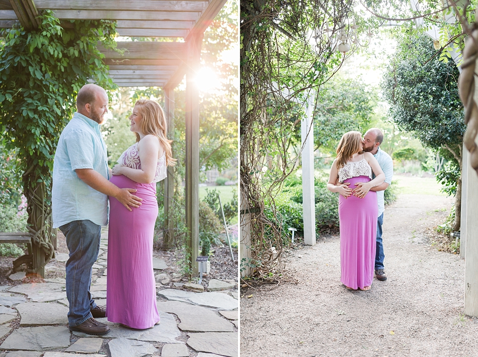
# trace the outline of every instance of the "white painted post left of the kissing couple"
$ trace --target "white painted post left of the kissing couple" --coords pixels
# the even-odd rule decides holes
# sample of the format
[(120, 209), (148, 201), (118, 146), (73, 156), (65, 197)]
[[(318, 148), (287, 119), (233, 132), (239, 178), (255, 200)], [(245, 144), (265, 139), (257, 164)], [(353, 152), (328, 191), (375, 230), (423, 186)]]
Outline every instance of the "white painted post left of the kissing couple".
[(316, 243), (316, 213), (314, 190), (314, 106), (309, 99), (305, 118), (302, 120), (302, 207), (304, 216), (304, 244)]

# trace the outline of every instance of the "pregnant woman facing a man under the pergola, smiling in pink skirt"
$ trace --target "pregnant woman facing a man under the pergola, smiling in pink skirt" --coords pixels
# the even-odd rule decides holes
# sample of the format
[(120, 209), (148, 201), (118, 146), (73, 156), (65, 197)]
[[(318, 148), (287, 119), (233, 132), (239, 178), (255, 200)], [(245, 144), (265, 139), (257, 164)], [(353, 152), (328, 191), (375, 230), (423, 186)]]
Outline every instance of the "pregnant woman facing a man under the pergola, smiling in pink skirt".
[(166, 177), (166, 166), (176, 160), (166, 137), (164, 113), (156, 101), (138, 100), (129, 119), (136, 143), (121, 154), (111, 182), (119, 188), (137, 189), (142, 202), (129, 211), (116, 198), (109, 198), (106, 317), (146, 329), (159, 323), (153, 273), (156, 182)]

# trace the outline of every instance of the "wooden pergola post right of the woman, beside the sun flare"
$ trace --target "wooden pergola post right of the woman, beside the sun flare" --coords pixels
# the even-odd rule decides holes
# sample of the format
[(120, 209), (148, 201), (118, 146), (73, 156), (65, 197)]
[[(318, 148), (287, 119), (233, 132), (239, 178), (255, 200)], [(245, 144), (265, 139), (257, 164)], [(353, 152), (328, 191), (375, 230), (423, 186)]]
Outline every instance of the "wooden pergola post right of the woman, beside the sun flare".
[(199, 71), (203, 34), (191, 36), (187, 43), (186, 72), (186, 227), (191, 275), (199, 274)]

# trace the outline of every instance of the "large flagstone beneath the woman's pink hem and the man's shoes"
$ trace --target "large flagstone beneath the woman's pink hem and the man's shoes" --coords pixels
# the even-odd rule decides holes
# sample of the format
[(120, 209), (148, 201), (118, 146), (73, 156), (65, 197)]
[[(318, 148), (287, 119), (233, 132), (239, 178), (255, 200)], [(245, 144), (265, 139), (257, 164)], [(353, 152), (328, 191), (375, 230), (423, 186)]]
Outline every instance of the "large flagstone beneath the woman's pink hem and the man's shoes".
[[(110, 332), (107, 335), (103, 335), (104, 338), (124, 337), (147, 342), (182, 343), (176, 340), (176, 337), (179, 337), (181, 332), (175, 318), (163, 312), (159, 312), (159, 317), (161, 318), (161, 323), (146, 330), (130, 329), (119, 323), (109, 322), (106, 317), (97, 318), (97, 320), (110, 326)], [(75, 331), (73, 334), (79, 337), (91, 337), (82, 332)]]

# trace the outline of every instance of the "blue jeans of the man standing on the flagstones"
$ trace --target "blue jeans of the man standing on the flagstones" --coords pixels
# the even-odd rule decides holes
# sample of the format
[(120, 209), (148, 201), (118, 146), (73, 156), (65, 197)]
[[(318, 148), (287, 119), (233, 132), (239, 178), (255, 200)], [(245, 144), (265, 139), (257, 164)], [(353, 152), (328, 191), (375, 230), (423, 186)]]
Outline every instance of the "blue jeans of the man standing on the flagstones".
[(93, 317), (97, 305), (91, 298), (91, 268), (100, 250), (101, 226), (90, 220), (74, 220), (60, 227), (70, 258), (66, 262), (66, 297), (70, 303), (68, 324), (78, 326)]

